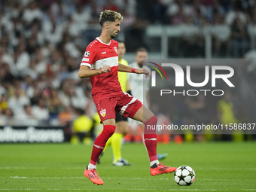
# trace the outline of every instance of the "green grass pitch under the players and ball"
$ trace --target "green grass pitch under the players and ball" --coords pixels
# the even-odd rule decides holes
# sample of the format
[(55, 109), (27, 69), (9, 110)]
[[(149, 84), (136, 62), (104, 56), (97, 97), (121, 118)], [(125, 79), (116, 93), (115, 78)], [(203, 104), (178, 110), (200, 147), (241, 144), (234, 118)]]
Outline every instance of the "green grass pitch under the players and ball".
[(256, 143), (219, 142), (158, 145), (168, 153), (166, 166), (191, 166), (196, 180), (178, 186), (172, 174), (152, 177), (142, 144), (125, 144), (132, 166), (111, 164), (111, 148), (97, 166), (102, 186), (84, 178), (91, 146), (70, 144), (1, 144), (0, 191), (254, 191)]

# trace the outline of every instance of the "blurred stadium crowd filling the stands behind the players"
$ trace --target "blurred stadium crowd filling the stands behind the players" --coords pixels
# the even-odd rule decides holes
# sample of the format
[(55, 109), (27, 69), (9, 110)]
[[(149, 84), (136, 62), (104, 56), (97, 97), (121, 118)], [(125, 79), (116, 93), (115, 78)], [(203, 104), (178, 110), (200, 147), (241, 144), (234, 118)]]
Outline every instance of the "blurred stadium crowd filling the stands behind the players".
[[(96, 38), (105, 9), (123, 15), (128, 51), (145, 46), (145, 26), (183, 25), (183, 56), (200, 52), (204, 26), (211, 25), (215, 56), (241, 57), (256, 35), (253, 0), (3, 0), (0, 2), (0, 124), (15, 120), (73, 120), (75, 109), (96, 113), (89, 78), (78, 78), (84, 50)], [(202, 30), (198, 30), (198, 27)], [(140, 32), (142, 31), (142, 32)], [(86, 37), (84, 37), (84, 34)], [(89, 34), (87, 36), (87, 34)], [(89, 37), (93, 36), (93, 39)], [(131, 38), (132, 37), (132, 38)], [(196, 47), (196, 48), (194, 48)], [(182, 52), (182, 50), (181, 50)]]

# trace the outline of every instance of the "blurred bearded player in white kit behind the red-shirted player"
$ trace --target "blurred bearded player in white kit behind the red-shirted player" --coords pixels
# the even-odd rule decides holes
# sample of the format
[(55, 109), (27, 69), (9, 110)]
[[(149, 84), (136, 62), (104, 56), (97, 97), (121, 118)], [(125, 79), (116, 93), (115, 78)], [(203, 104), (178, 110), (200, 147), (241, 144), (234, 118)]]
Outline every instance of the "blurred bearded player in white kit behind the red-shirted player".
[[(136, 50), (135, 62), (131, 63), (130, 67), (136, 69), (147, 69), (148, 72), (150, 72), (151, 69), (149, 69), (148, 66), (143, 65), (145, 59), (148, 59), (148, 50), (141, 47)], [(129, 76), (132, 96), (139, 99), (146, 108), (150, 108), (149, 81), (149, 78), (145, 78), (142, 75), (130, 74)], [(139, 126), (142, 126), (141, 129), (143, 130), (143, 123), (140, 123), (138, 120), (129, 119), (129, 123), (132, 133), (138, 134)], [(167, 155), (168, 154), (157, 154), (157, 159), (163, 160)]]

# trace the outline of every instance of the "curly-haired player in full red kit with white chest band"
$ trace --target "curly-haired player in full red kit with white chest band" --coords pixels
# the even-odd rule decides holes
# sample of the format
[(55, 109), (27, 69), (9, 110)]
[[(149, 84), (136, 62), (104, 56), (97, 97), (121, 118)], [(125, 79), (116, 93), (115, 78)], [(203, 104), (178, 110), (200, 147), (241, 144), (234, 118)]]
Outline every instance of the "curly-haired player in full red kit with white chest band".
[[(145, 108), (142, 102), (121, 90), (117, 72), (145, 74), (146, 78), (149, 77), (149, 72), (146, 69), (134, 69), (118, 63), (118, 43), (112, 38), (115, 38), (120, 32), (121, 20), (123, 17), (115, 11), (105, 10), (100, 14), (99, 23), (102, 26), (102, 33), (88, 45), (78, 72), (80, 78), (90, 78), (93, 101), (101, 123), (103, 123), (102, 133), (96, 138), (93, 145), (90, 163), (84, 170), (84, 176), (95, 184), (104, 184), (96, 172), (96, 162), (105, 148), (106, 142), (114, 133), (115, 111), (124, 117), (141, 121), (147, 128), (157, 124), (157, 117), (148, 108)], [(144, 139), (150, 160), (151, 175), (174, 172), (177, 168), (164, 166), (157, 160), (155, 130), (145, 128)]]

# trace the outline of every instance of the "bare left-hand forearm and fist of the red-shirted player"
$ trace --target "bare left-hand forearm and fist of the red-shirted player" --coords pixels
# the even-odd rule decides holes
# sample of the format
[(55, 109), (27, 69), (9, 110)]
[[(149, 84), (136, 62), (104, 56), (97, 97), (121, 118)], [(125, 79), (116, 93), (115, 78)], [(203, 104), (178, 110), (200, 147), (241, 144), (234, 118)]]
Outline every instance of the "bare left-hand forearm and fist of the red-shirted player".
[(89, 66), (80, 66), (78, 76), (79, 78), (89, 78), (94, 75), (100, 75), (102, 73), (107, 73), (110, 71), (111, 71), (111, 67), (107, 65), (103, 66), (102, 69), (94, 69), (94, 70), (90, 70)]

